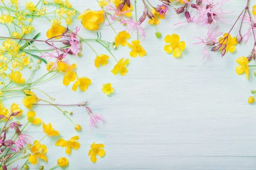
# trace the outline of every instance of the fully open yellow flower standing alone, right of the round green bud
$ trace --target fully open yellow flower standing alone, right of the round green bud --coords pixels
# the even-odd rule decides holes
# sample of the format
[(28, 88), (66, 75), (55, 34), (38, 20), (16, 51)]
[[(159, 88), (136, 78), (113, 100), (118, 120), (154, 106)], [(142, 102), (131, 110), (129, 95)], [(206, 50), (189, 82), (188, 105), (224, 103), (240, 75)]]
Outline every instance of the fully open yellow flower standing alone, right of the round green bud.
[(164, 46), (164, 51), (166, 53), (171, 53), (173, 51), (173, 57), (180, 57), (181, 51), (183, 51), (185, 48), (185, 42), (179, 42), (179, 40), (180, 36), (178, 36), (177, 34), (172, 34), (172, 36), (169, 34), (166, 35), (164, 41), (169, 42), (170, 44)]

